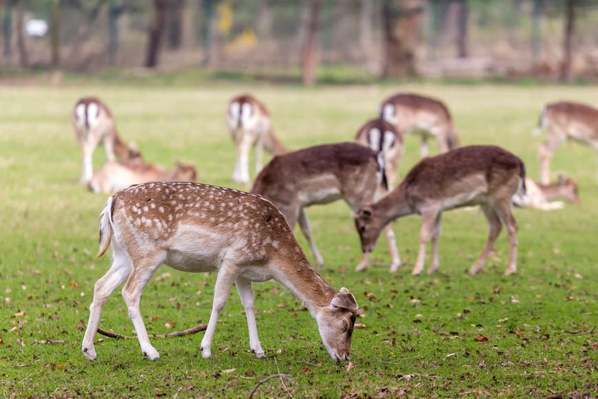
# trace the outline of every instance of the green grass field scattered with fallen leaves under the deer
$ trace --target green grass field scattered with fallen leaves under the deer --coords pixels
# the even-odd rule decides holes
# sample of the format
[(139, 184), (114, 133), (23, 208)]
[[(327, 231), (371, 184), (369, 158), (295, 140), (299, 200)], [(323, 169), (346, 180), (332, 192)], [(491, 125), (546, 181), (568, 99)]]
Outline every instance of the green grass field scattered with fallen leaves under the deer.
[[(232, 183), (234, 150), (223, 122), (228, 98), (257, 94), (289, 147), (352, 140), (375, 115), (384, 96), (408, 89), (443, 98), (463, 143), (499, 144), (520, 155), (538, 177), (530, 131), (549, 100), (595, 101), (596, 87), (496, 85), (337, 86), (305, 89), (258, 83), (206, 86), (115, 87), (97, 83), (63, 87), (3, 87), (0, 97), (0, 395), (1, 396), (575, 396), (598, 395), (598, 186), (593, 151), (565, 145), (553, 171), (577, 180), (582, 204), (562, 211), (516, 210), (519, 272), (502, 276), (503, 232), (483, 274), (466, 273), (487, 235), (478, 211), (443, 218), (441, 266), (432, 277), (412, 277), (418, 217), (394, 224), (403, 262), (389, 274), (384, 242), (375, 266), (353, 272), (359, 244), (346, 205), (310, 208), (315, 240), (326, 260), (322, 276), (355, 293), (365, 328), (355, 331), (351, 361), (336, 365), (323, 348), (315, 321), (276, 283), (254, 284), (256, 316), (267, 360), (248, 353), (247, 327), (232, 290), (221, 315), (212, 358), (199, 352), (201, 334), (153, 339), (161, 360), (149, 362), (136, 340), (98, 336), (98, 359), (80, 343), (93, 283), (110, 266), (94, 259), (98, 214), (106, 195), (78, 184), (80, 155), (69, 113), (83, 95), (111, 107), (122, 136), (147, 160), (168, 166), (195, 162), (199, 180)], [(419, 144), (407, 139), (401, 174), (417, 162)], [(96, 152), (96, 168), (104, 155)], [(300, 233), (298, 234), (300, 236)], [(298, 237), (307, 248), (303, 237)], [(309, 254), (311, 259), (311, 254)], [(160, 268), (142, 299), (150, 334), (206, 323), (213, 274)], [(100, 327), (133, 335), (115, 292)], [(60, 341), (43, 343), (46, 338)], [(234, 371), (230, 371), (234, 369)]]

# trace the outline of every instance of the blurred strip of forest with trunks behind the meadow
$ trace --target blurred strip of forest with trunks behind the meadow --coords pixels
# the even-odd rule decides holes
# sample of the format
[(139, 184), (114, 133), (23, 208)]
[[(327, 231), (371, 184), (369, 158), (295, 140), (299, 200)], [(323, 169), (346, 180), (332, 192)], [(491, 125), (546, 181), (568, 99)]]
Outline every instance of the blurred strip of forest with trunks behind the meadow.
[(0, 0), (0, 73), (598, 80), (598, 0)]

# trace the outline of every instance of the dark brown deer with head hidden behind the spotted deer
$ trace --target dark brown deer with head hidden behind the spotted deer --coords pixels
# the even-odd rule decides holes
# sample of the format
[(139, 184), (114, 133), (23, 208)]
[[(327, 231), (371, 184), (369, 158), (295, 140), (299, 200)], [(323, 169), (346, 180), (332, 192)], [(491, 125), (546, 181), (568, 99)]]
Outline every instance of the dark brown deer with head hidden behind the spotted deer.
[[(353, 142), (276, 155), (256, 177), (252, 188), (252, 193), (263, 195), (280, 209), (291, 230), (299, 222), (320, 268), (324, 259), (313, 241), (305, 208), (342, 199), (355, 212), (387, 192), (382, 154)], [(390, 270), (395, 271), (401, 259), (390, 226), (386, 228), (386, 239), (392, 257)], [(368, 266), (368, 257), (368, 253), (363, 254), (357, 270)]]

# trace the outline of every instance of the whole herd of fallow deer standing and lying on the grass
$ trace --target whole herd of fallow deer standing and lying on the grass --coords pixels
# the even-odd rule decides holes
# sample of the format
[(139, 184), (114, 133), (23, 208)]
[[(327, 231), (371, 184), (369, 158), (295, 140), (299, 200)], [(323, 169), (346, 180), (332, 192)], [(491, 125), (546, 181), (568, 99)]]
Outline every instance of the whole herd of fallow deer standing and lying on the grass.
[[(303, 301), (315, 319), (327, 351), (335, 361), (348, 359), (359, 305), (347, 288), (335, 290), (311, 266), (296, 238), (298, 222), (319, 269), (324, 258), (315, 245), (306, 208), (344, 200), (353, 212), (362, 246), (356, 271), (368, 267), (369, 255), (384, 230), (390, 272), (401, 266), (392, 221), (421, 215), (419, 252), (412, 274), (423, 272), (426, 246), (432, 241), (428, 273), (439, 268), (438, 241), (442, 213), (479, 206), (489, 234), (469, 269), (482, 270), (502, 226), (509, 235), (505, 274), (517, 270), (517, 231), (512, 206), (544, 211), (579, 202), (577, 184), (559, 175), (550, 182), (550, 160), (568, 139), (597, 151), (598, 109), (577, 103), (553, 103), (540, 113), (535, 133), (547, 131), (538, 149), (540, 182), (526, 177), (524, 162), (490, 145), (461, 147), (447, 106), (439, 100), (400, 93), (381, 103), (379, 117), (357, 130), (355, 142), (324, 144), (298, 151), (285, 147), (274, 134), (269, 111), (254, 96), (236, 96), (225, 122), (236, 147), (232, 179), (249, 192), (195, 183), (192, 164), (176, 169), (145, 162), (135, 144), (118, 135), (108, 107), (98, 98), (82, 98), (71, 122), (82, 153), (81, 182), (93, 192), (113, 193), (100, 218), (100, 252), (112, 248), (111, 268), (93, 292), (82, 352), (96, 358), (93, 345), (102, 307), (120, 285), (142, 353), (159, 358), (140, 313), (142, 291), (157, 268), (166, 264), (185, 272), (215, 272), (212, 313), (201, 341), (204, 358), (211, 356), (219, 315), (234, 284), (241, 298), (250, 349), (265, 357), (256, 327), (252, 282), (274, 280)], [(421, 160), (397, 183), (397, 168), (408, 133), (421, 138)], [(440, 154), (429, 157), (428, 139)], [(107, 163), (93, 173), (93, 151), (102, 143)], [(255, 148), (256, 177), (250, 184), (250, 151)], [(263, 150), (274, 158), (263, 167)], [(118, 160), (117, 160), (118, 158)]]

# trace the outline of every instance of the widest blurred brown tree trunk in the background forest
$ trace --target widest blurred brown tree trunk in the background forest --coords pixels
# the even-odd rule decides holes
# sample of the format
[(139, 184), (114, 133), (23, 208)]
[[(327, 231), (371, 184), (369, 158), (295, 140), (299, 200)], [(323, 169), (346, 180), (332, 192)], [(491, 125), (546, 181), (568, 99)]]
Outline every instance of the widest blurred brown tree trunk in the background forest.
[(401, 7), (395, 6), (392, 0), (384, 0), (384, 63), (381, 78), (417, 75), (413, 46), (420, 13), (421, 5), (417, 0), (403, 0)]

